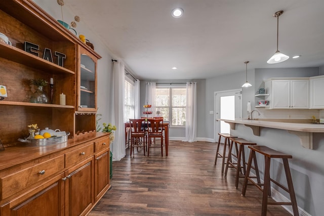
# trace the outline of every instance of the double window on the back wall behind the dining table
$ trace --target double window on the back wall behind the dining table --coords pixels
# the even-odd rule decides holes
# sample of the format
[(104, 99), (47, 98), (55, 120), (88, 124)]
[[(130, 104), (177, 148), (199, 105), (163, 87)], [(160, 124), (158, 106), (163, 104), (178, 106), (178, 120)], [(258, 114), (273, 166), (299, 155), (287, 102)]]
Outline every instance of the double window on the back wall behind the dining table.
[(186, 125), (186, 88), (171, 87), (155, 90), (155, 115), (163, 116), (172, 126)]

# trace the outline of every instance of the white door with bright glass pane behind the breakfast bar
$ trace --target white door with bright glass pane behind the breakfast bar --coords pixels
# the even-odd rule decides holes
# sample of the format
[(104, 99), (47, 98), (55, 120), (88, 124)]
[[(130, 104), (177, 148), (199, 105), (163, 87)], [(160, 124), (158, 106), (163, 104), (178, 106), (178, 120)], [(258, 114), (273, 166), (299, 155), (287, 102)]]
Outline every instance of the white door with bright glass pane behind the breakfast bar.
[(228, 123), (218, 119), (241, 118), (241, 90), (230, 90), (215, 92), (215, 142), (218, 139), (218, 133), (230, 134)]

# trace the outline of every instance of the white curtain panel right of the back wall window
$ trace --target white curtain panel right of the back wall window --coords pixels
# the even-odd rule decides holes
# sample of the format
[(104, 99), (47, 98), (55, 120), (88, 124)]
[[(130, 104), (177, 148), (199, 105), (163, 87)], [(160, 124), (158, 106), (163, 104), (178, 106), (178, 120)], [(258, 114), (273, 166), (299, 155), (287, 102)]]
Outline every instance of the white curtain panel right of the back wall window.
[(187, 82), (186, 137), (183, 142), (197, 141), (197, 82)]

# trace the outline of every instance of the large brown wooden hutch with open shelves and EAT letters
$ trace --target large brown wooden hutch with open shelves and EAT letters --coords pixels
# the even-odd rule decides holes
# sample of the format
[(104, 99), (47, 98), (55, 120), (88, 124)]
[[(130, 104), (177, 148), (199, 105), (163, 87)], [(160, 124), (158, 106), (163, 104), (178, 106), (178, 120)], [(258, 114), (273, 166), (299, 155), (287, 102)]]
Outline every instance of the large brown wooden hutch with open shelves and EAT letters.
[[(8, 93), (0, 101), (0, 215), (86, 215), (110, 187), (109, 135), (96, 132), (101, 56), (31, 0), (0, 1), (0, 17), (0, 32), (12, 42), (0, 42), (0, 84)], [(39, 49), (26, 52), (26, 41)], [(30, 79), (39, 78), (53, 78), (52, 103), (30, 102)], [(35, 123), (70, 132), (68, 141), (19, 142)]]

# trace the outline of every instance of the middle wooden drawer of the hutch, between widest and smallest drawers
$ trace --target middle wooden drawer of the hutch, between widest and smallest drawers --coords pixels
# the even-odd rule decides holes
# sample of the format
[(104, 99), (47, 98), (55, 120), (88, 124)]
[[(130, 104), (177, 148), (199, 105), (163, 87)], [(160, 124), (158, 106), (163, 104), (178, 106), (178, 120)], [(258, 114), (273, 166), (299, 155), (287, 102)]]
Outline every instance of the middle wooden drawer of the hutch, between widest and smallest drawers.
[(93, 155), (93, 143), (66, 153), (65, 166), (69, 167), (74, 163), (83, 161), (84, 159), (91, 157), (92, 155)]

